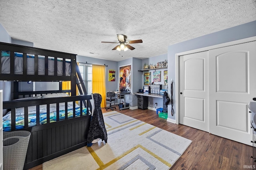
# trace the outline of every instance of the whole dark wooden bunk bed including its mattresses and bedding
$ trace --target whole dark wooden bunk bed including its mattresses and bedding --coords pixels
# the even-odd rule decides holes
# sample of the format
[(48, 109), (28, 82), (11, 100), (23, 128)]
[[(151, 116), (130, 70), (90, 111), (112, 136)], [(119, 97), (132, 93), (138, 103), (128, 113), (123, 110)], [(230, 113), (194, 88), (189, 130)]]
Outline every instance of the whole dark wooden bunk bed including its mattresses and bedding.
[[(0, 80), (11, 81), (14, 99), (3, 102), (3, 130), (31, 132), (24, 169), (86, 146), (92, 97), (76, 95), (76, 54), (2, 42), (0, 51)], [(19, 91), (20, 81), (57, 81), (59, 90)], [(71, 89), (62, 90), (62, 81)]]

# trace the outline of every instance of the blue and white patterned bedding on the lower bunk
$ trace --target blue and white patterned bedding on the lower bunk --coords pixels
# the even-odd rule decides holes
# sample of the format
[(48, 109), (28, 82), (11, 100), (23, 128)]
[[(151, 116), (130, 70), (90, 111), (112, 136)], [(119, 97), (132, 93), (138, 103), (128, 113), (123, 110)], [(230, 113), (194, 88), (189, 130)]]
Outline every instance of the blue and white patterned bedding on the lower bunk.
[[(83, 107), (82, 115), (87, 109)], [(76, 117), (80, 117), (80, 106), (76, 105)], [(68, 102), (68, 119), (73, 118), (73, 104)], [(65, 119), (65, 104), (60, 103), (60, 121)], [(50, 123), (56, 122), (56, 104), (50, 104)], [(40, 105), (40, 125), (46, 124), (46, 105)], [(36, 106), (28, 107), (28, 127), (36, 126)], [(24, 108), (16, 109), (16, 129), (24, 128)], [(11, 112), (3, 117), (3, 131), (11, 131)]]

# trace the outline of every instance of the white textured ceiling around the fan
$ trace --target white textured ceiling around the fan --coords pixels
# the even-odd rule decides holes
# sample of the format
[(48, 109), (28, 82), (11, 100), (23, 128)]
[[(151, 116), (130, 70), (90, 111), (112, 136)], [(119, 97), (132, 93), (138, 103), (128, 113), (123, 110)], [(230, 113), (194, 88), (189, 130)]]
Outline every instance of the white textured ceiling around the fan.
[[(34, 47), (121, 61), (256, 20), (256, 0), (1, 0), (0, 23)], [(116, 34), (136, 49), (112, 50)], [(91, 54), (98, 53), (98, 54)]]

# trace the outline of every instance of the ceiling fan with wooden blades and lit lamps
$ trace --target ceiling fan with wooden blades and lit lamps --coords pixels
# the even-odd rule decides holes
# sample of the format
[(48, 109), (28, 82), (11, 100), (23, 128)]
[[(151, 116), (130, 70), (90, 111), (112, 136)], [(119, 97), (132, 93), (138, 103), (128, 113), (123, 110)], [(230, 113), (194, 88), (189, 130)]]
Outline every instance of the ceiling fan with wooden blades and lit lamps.
[(116, 47), (114, 47), (112, 50), (134, 50), (135, 48), (132, 47), (131, 45), (129, 45), (130, 43), (142, 43), (142, 40), (131, 40), (131, 41), (127, 41), (127, 36), (123, 35), (123, 34), (116, 34), (117, 35), (117, 39), (118, 42), (102, 42), (102, 43), (120, 43), (120, 45), (116, 45)]

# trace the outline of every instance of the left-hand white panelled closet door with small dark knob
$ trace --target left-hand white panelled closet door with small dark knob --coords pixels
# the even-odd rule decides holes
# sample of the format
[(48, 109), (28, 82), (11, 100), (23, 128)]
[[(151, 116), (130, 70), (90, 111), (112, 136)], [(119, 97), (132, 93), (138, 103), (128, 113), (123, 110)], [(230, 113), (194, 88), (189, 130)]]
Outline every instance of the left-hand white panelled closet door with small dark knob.
[(179, 57), (180, 124), (209, 132), (208, 51)]

